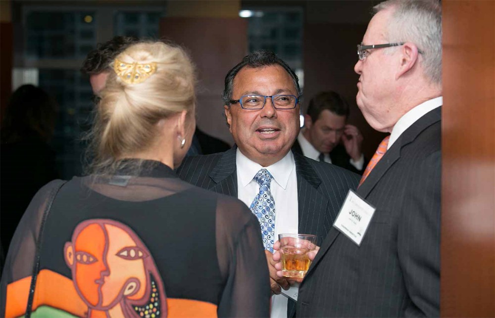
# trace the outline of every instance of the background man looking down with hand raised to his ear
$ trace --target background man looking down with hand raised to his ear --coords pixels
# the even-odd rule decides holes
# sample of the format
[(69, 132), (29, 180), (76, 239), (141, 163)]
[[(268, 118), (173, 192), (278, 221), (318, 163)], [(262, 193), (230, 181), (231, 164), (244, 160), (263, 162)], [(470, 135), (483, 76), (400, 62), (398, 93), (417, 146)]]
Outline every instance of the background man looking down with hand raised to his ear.
[(367, 164), (361, 151), (363, 136), (357, 127), (346, 125), (348, 117), (349, 105), (341, 95), (319, 92), (309, 101), (294, 151), (362, 175)]

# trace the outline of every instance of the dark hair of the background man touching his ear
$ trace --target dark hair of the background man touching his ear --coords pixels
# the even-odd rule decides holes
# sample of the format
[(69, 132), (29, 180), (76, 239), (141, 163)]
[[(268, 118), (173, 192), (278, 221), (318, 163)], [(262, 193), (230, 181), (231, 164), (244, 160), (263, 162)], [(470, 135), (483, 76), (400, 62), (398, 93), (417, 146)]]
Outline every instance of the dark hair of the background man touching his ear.
[(311, 117), (314, 123), (325, 109), (336, 115), (349, 117), (349, 104), (335, 91), (321, 91), (317, 93), (309, 101), (306, 114)]

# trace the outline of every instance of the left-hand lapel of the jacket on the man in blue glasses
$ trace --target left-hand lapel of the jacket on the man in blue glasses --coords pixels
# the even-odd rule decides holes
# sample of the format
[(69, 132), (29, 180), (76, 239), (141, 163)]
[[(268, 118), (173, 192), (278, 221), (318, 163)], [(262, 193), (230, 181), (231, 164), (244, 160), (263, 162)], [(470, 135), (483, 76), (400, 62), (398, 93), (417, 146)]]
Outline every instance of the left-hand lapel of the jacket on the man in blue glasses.
[(209, 174), (213, 182), (208, 190), (237, 198), (236, 151), (237, 146), (234, 146), (223, 153)]

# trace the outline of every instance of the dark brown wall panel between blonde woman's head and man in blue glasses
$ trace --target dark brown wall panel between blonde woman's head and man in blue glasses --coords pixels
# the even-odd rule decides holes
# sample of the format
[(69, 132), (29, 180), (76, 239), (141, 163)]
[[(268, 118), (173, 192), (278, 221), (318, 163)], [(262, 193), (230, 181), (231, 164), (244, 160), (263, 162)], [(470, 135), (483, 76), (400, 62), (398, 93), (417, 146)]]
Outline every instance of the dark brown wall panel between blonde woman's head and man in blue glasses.
[(189, 49), (198, 66), (198, 127), (233, 144), (221, 94), (225, 75), (247, 52), (246, 19), (167, 17), (160, 35)]

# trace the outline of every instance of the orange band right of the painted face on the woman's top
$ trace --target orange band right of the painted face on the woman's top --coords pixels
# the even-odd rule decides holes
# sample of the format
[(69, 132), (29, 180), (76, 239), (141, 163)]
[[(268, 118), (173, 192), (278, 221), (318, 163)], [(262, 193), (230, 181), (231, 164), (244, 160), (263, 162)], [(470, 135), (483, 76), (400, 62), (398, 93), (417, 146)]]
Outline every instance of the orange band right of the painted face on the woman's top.
[(168, 318), (217, 317), (217, 306), (199, 300), (167, 298)]

